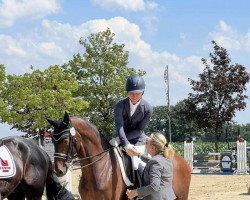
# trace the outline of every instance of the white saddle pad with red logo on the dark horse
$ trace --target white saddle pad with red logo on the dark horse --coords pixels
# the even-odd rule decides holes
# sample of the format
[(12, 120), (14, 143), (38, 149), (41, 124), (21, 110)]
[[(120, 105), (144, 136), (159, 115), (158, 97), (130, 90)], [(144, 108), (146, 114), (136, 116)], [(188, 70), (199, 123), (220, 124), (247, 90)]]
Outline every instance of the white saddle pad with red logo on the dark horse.
[(3, 145), (0, 147), (0, 179), (15, 176), (16, 166), (9, 149)]

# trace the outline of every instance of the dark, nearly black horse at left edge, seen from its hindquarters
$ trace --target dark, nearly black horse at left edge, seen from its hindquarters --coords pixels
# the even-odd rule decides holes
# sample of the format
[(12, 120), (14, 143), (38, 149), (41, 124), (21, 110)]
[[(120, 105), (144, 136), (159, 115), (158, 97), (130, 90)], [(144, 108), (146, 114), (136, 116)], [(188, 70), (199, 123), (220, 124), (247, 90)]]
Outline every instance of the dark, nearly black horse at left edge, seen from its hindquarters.
[(60, 184), (48, 154), (34, 142), (15, 136), (1, 139), (0, 145), (9, 149), (16, 165), (13, 177), (0, 179), (0, 199), (41, 200), (45, 184), (48, 200), (74, 199)]

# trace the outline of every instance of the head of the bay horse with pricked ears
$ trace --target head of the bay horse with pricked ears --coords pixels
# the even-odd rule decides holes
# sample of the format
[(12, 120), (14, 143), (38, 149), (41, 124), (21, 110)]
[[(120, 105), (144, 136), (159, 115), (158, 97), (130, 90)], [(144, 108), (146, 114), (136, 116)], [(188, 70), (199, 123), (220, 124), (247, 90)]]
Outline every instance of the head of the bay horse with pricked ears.
[(57, 176), (63, 176), (75, 155), (75, 129), (71, 126), (67, 112), (59, 120), (46, 119), (54, 128), (51, 138), (55, 147), (55, 171)]

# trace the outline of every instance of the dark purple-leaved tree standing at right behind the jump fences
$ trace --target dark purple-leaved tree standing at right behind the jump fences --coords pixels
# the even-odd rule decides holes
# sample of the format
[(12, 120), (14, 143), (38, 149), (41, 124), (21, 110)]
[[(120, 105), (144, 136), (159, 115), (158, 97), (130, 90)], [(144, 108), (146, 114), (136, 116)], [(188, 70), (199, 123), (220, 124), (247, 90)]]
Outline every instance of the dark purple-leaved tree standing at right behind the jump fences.
[(197, 127), (214, 134), (215, 149), (218, 150), (220, 128), (232, 120), (236, 111), (246, 107), (244, 92), (250, 76), (244, 66), (230, 64), (226, 49), (214, 41), (212, 44), (214, 52), (209, 54), (210, 64), (202, 58), (205, 68), (199, 74), (200, 80), (189, 79), (194, 93), (184, 100), (184, 114)]

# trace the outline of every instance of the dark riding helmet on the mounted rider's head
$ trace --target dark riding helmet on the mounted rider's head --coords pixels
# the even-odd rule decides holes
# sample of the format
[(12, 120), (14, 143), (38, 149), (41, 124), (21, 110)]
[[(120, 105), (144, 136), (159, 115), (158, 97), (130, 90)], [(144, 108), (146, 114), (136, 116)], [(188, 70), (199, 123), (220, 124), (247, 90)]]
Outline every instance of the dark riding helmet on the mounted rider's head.
[(126, 82), (127, 92), (144, 92), (145, 82), (140, 75), (134, 74), (128, 77)]

